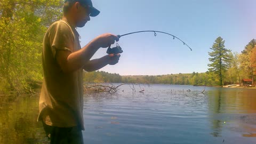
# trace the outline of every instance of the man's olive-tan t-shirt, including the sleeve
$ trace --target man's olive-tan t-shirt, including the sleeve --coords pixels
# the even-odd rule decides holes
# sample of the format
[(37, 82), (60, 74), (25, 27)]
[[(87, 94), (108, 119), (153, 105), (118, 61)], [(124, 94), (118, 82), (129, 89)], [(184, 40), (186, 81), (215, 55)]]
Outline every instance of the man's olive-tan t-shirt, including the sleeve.
[(79, 34), (67, 21), (54, 22), (43, 41), (43, 85), (39, 99), (38, 121), (58, 127), (78, 126), (83, 121), (83, 69), (64, 73), (55, 54), (81, 49)]

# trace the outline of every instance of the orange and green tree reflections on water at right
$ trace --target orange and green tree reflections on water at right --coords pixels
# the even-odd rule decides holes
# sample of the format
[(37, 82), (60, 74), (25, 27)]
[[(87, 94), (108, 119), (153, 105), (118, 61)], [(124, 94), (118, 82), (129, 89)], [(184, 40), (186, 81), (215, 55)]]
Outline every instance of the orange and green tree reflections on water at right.
[(214, 137), (225, 129), (242, 137), (256, 137), (256, 91), (221, 89), (209, 91), (209, 115)]

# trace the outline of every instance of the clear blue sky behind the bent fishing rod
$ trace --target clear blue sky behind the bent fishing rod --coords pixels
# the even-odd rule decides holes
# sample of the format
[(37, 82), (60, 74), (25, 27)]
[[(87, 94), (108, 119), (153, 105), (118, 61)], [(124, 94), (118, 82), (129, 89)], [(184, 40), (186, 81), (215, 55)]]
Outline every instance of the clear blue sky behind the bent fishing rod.
[[(227, 49), (240, 53), (256, 38), (255, 0), (92, 0), (101, 11), (85, 27), (78, 28), (81, 45), (103, 33), (122, 35), (139, 30), (158, 30), (185, 41), (157, 33), (121, 37), (119, 63), (100, 70), (120, 75), (164, 75), (207, 71), (210, 47), (218, 36)], [(115, 46), (115, 45), (113, 45)], [(100, 49), (93, 58), (100, 58)]]

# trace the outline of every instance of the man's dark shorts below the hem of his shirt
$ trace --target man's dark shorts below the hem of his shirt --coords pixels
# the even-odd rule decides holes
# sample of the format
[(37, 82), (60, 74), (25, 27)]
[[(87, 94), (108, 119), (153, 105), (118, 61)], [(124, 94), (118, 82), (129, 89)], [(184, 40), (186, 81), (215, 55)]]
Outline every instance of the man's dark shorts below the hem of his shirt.
[(75, 127), (56, 127), (46, 125), (43, 122), (44, 131), (46, 136), (50, 139), (51, 144), (60, 143), (74, 143), (83, 144), (83, 134), (82, 130)]

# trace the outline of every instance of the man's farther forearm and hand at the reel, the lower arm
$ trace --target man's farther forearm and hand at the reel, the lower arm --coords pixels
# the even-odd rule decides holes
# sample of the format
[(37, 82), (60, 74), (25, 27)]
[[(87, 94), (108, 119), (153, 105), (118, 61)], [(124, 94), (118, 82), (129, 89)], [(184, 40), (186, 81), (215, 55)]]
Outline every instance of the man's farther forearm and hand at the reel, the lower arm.
[(83, 69), (86, 71), (99, 70), (107, 65), (115, 65), (120, 58), (120, 54), (108, 54), (102, 58), (90, 60), (85, 63)]

